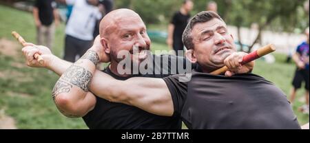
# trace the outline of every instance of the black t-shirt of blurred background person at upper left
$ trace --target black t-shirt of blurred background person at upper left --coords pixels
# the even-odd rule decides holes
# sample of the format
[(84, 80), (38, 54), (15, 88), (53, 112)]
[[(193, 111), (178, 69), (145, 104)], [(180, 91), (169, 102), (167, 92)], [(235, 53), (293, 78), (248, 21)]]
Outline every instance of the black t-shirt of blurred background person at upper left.
[(54, 0), (37, 0), (34, 7), (39, 9), (39, 19), (42, 25), (51, 25), (54, 21), (53, 10), (56, 8)]

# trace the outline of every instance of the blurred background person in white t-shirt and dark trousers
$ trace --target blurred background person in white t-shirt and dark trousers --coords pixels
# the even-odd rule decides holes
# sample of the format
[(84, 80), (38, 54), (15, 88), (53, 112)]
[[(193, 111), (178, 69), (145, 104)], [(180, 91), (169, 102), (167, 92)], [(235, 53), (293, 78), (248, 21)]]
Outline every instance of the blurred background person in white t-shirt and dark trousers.
[(103, 5), (99, 0), (59, 0), (73, 5), (70, 18), (65, 27), (65, 61), (74, 62), (92, 46), (94, 28), (103, 16)]

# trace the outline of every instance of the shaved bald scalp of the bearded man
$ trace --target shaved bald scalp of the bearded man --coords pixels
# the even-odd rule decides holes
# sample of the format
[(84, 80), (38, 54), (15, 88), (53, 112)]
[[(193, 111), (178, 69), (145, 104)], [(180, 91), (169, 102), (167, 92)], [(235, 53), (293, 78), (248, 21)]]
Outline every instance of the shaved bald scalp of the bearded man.
[(99, 32), (101, 37), (107, 38), (115, 28), (121, 28), (123, 23), (142, 21), (141, 17), (133, 10), (121, 8), (109, 12), (100, 22)]

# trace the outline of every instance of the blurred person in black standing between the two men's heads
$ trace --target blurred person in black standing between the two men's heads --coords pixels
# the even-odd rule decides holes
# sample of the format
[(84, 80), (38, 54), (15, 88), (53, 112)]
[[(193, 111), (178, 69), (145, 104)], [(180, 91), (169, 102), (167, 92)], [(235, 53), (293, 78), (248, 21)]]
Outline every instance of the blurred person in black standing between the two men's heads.
[[(178, 50), (184, 51), (182, 34), (191, 17), (190, 13), (194, 3), (191, 0), (183, 1), (183, 4), (178, 12), (174, 14), (168, 26), (167, 45), (170, 50), (174, 50), (178, 55)], [(178, 55), (181, 56), (181, 55)]]

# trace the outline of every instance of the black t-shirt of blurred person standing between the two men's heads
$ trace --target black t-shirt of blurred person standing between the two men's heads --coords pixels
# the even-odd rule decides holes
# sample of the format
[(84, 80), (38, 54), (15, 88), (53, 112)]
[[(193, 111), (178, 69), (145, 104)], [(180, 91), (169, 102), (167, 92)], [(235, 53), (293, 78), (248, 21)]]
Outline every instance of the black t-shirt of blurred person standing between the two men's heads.
[(183, 15), (179, 11), (174, 14), (174, 16), (172, 17), (172, 21), (170, 21), (170, 23), (174, 25), (174, 41), (182, 42), (182, 34), (186, 28), (190, 17), (190, 14)]

